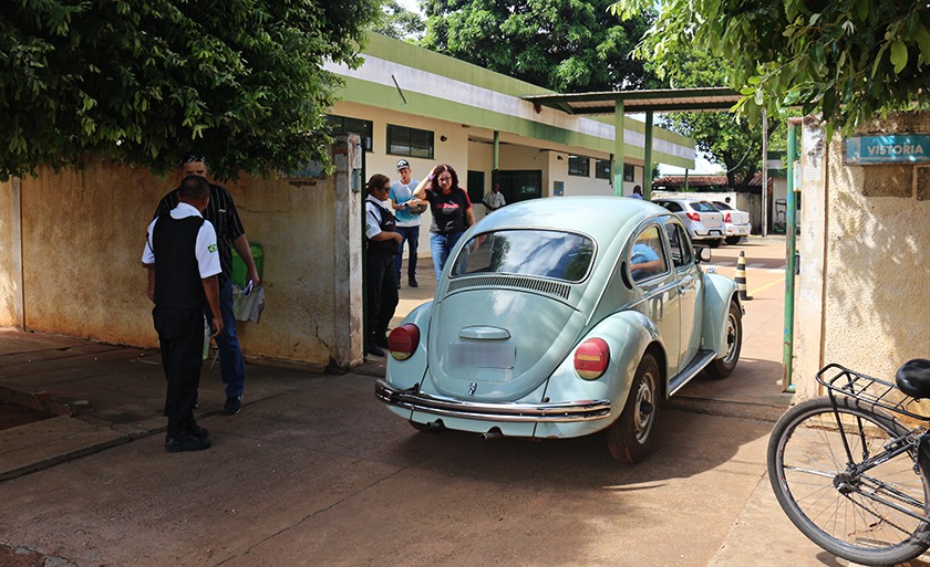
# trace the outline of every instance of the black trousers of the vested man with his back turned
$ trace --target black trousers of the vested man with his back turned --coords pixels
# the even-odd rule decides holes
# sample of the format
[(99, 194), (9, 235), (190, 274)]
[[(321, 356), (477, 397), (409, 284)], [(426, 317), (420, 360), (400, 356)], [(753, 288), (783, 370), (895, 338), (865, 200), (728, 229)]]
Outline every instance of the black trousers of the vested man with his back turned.
[[(200, 368), (204, 360), (204, 312), (158, 307), (152, 309), (162, 365), (168, 379), (165, 396), (165, 416), (170, 420), (185, 420), (194, 410)], [(169, 432), (172, 433), (172, 432)]]

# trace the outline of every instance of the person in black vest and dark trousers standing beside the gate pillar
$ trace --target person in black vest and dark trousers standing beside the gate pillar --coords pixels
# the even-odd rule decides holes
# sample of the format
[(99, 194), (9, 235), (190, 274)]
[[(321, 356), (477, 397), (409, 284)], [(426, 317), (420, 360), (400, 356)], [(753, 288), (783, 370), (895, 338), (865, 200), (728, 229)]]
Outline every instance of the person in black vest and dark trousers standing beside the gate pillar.
[(384, 356), (381, 348), (388, 346), (388, 325), (399, 301), (394, 254), (403, 238), (397, 232), (394, 216), (384, 207), (390, 192), (391, 180), (386, 176), (371, 176), (368, 182), (369, 197), (365, 199), (365, 290), (369, 306), (365, 353), (374, 356)]

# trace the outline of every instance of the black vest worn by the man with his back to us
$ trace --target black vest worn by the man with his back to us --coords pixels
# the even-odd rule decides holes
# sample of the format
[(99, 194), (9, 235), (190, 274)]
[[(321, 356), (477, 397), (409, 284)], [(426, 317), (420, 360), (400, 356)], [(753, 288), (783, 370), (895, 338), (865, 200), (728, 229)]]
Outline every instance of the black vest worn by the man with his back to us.
[(158, 217), (152, 234), (155, 252), (155, 305), (176, 309), (202, 309), (207, 297), (197, 263), (197, 233), (203, 217)]

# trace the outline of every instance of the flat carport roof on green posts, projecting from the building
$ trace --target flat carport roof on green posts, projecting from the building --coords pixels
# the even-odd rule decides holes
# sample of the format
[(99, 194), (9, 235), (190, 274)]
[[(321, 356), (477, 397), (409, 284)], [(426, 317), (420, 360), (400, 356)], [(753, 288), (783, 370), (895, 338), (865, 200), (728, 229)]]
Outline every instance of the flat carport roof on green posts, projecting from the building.
[(613, 114), (617, 102), (628, 114), (657, 112), (730, 111), (742, 95), (727, 87), (660, 88), (652, 91), (608, 91), (524, 96), (534, 105), (548, 106), (568, 114)]

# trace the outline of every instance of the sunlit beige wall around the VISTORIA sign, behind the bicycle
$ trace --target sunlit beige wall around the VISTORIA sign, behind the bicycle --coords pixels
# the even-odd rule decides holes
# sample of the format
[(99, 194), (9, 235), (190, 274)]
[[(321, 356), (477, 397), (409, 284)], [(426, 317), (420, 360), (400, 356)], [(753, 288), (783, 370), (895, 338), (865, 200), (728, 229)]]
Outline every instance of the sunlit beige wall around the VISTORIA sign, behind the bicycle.
[[(861, 129), (928, 132), (930, 113)], [(841, 155), (836, 135), (823, 189), (802, 189), (793, 379), (805, 396), (816, 393), (812, 372), (823, 364), (893, 380), (902, 363), (930, 356), (930, 176), (909, 165), (846, 166)]]

